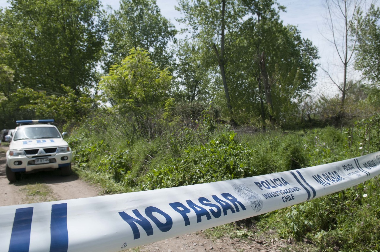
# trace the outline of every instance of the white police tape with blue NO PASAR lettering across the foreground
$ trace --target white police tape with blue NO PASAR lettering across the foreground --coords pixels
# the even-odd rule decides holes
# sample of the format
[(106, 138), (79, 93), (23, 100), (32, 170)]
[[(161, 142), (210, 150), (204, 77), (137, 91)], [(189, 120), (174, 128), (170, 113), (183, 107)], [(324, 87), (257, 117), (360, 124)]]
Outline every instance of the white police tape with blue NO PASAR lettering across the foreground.
[(306, 202), (380, 173), (380, 152), (191, 186), (0, 207), (0, 252), (116, 252)]

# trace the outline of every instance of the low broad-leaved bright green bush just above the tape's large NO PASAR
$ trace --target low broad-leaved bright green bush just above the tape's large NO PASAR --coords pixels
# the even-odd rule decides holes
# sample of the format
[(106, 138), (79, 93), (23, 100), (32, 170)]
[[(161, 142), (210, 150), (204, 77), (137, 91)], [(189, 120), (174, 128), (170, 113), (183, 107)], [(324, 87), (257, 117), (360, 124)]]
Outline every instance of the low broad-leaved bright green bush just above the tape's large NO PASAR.
[(144, 189), (185, 186), (234, 178), (249, 171), (250, 151), (234, 140), (235, 134), (222, 133), (200, 146), (190, 146), (168, 164), (150, 169)]

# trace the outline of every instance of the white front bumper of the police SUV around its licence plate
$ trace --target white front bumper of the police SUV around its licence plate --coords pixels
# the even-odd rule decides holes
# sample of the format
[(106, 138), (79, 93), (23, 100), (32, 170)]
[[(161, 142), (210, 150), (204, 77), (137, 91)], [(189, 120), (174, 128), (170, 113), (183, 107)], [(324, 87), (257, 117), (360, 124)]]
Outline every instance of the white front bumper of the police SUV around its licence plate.
[[(44, 159), (49, 162), (36, 164), (36, 159)], [(44, 156), (10, 156), (6, 157), (6, 162), (12, 172), (32, 172), (41, 169), (58, 169), (70, 165), (72, 159), (71, 152), (56, 153)], [(38, 162), (38, 161), (37, 161)]]

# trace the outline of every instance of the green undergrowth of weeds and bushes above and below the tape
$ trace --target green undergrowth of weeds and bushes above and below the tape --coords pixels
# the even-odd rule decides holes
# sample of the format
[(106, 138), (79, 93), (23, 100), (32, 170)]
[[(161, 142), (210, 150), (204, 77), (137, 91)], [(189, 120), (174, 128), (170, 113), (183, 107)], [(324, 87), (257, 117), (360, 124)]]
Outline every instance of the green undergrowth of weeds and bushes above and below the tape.
[[(74, 128), (69, 142), (80, 176), (105, 192), (133, 192), (256, 176), (336, 162), (380, 147), (380, 117), (336, 129), (237, 133), (204, 116), (160, 121), (141, 137), (126, 118), (103, 114)], [(121, 125), (121, 126), (120, 126)], [(245, 220), (217, 233), (251, 236), (268, 228), (320, 251), (380, 251), (380, 182), (366, 183)], [(261, 230), (261, 231), (259, 231)], [(311, 246), (311, 245), (310, 245)]]

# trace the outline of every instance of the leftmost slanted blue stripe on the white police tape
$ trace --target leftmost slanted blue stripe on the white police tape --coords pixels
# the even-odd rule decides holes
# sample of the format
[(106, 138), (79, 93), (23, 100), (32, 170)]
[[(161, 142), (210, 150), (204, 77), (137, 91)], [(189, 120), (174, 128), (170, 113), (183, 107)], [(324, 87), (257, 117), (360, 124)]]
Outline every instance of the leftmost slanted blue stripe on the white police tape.
[(14, 215), (11, 242), (8, 252), (28, 252), (33, 207), (17, 208)]

